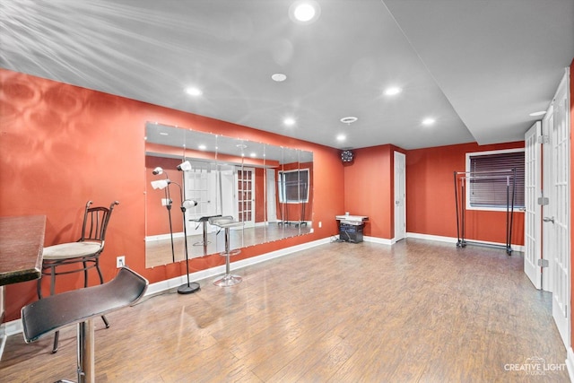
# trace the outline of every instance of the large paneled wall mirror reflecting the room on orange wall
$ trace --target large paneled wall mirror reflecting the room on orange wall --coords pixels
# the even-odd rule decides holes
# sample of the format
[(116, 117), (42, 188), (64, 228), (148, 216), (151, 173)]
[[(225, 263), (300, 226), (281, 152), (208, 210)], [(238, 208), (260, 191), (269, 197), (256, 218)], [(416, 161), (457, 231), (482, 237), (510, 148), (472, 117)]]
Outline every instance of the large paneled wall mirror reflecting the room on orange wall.
[(239, 222), (231, 248), (312, 230), (312, 152), (152, 122), (145, 137), (147, 267), (185, 259), (184, 233), (188, 257), (222, 252), (213, 216)]

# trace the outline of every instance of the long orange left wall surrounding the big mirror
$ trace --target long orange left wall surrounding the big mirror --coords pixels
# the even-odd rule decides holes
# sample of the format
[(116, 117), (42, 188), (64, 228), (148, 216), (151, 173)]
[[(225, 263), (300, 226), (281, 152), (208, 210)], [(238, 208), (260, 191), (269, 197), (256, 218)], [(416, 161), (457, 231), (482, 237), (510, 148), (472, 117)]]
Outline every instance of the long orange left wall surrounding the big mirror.
[[(44, 244), (49, 246), (77, 239), (88, 199), (98, 205), (118, 200), (100, 258), (104, 279), (117, 273), (120, 255), (150, 283), (184, 275), (183, 263), (145, 268), (146, 121), (311, 151), (314, 164), (325, 170), (315, 176), (313, 190), (312, 219), (322, 221), (322, 228), (315, 225), (309, 235), (245, 248), (236, 259), (337, 231), (334, 217), (344, 210), (344, 199), (333, 190), (343, 185), (344, 170), (333, 148), (5, 69), (0, 69), (0, 215), (45, 214)], [(193, 272), (223, 262), (219, 256), (200, 257), (190, 260), (189, 267)], [(91, 274), (91, 284), (96, 280)], [(81, 274), (64, 275), (57, 292), (82, 283)], [(6, 286), (5, 320), (20, 318), (20, 308), (36, 299), (35, 282)]]

